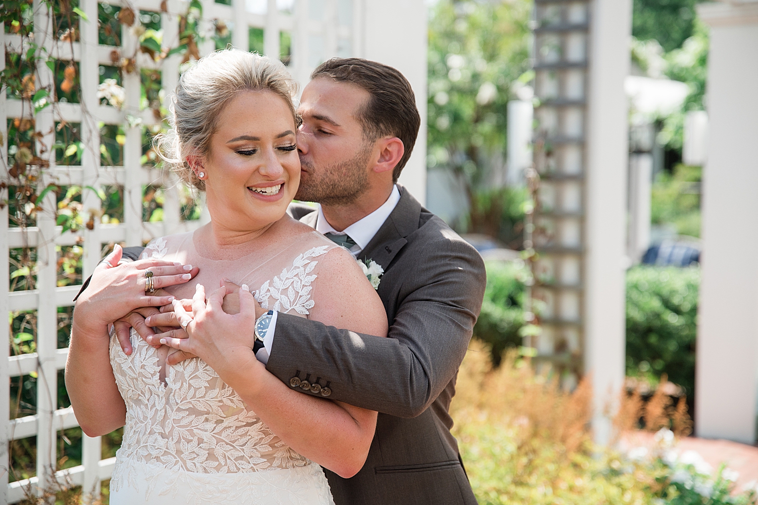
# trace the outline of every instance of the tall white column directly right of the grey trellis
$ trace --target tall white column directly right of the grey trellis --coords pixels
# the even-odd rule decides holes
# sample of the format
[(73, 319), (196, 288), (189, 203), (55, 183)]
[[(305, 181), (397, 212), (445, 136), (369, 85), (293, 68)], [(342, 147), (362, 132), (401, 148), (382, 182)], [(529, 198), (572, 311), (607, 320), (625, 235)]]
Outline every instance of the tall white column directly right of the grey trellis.
[(627, 98), (631, 0), (591, 4), (584, 222), (584, 369), (594, 391), (597, 441), (609, 439), (603, 415), (624, 379)]

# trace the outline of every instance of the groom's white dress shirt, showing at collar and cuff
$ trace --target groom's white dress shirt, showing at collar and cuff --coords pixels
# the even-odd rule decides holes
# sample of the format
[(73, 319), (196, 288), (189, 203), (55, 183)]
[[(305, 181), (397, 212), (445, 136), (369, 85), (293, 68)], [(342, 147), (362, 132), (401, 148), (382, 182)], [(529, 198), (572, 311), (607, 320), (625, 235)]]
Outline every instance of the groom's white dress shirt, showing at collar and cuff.
[[(355, 246), (352, 246), (350, 249), (348, 249), (350, 254), (352, 254), (352, 257), (356, 258), (359, 253), (365, 249), (365, 246), (368, 246), (368, 243), (371, 242), (371, 239), (374, 238), (374, 235), (377, 234), (377, 231), (379, 231), (381, 225), (384, 224), (384, 221), (387, 221), (387, 218), (389, 218), (390, 214), (392, 214), (392, 211), (395, 210), (397, 202), (399, 201), (400, 191), (395, 185), (392, 187), (392, 193), (390, 193), (390, 197), (387, 198), (387, 201), (384, 202), (381, 207), (379, 207), (379, 209), (376, 209), (365, 218), (362, 218), (361, 220), (351, 224), (349, 227), (346, 227), (343, 231), (337, 231), (334, 229), (334, 227), (332, 227), (331, 224), (329, 224), (327, 218), (324, 218), (324, 212), (321, 210), (321, 205), (318, 205), (316, 231), (321, 234), (347, 234), (356, 243)], [(277, 324), (277, 314), (278, 312), (274, 311), (274, 317), (271, 318), (271, 324), (268, 325), (268, 332), (263, 339), (264, 348), (258, 350), (258, 353), (255, 354), (255, 357), (258, 358), (258, 361), (262, 362), (263, 364), (268, 363), (268, 356), (271, 355), (271, 346), (274, 344), (274, 331), (276, 330)]]

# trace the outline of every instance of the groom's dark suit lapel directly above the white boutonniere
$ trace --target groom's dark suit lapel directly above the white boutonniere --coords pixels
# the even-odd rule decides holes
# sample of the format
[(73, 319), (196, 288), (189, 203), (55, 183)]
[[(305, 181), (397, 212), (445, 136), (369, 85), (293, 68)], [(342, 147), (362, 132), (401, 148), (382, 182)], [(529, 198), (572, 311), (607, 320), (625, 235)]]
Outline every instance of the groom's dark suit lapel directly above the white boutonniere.
[(371, 242), (359, 254), (359, 259), (371, 259), (387, 271), (392, 260), (403, 246), (406, 237), (418, 230), (421, 204), (404, 187), (399, 186), (400, 200), (390, 217), (381, 225)]

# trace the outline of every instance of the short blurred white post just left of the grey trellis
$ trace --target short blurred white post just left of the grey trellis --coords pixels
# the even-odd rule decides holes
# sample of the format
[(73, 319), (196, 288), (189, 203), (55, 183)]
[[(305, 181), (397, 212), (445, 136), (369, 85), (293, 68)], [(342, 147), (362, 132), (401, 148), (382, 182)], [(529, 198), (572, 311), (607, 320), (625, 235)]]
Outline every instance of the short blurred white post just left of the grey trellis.
[(508, 102), (508, 176), (509, 186), (523, 186), (524, 174), (531, 167), (531, 132), (534, 130), (534, 105), (531, 100)]

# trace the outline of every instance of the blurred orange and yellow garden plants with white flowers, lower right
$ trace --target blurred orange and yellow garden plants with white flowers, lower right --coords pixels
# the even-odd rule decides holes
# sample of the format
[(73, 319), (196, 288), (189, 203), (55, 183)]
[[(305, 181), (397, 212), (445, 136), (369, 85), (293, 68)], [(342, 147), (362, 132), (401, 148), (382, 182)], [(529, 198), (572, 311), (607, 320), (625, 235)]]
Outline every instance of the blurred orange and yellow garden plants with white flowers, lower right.
[[(754, 490), (735, 490), (735, 472), (713, 472), (696, 453), (678, 454), (674, 432), (659, 428), (660, 419), (681, 431), (677, 424), (686, 421), (686, 412), (677, 419), (677, 411), (663, 404), (625, 397), (619, 417), (650, 419), (644, 428), (658, 430), (656, 444), (625, 451), (597, 447), (588, 424), (587, 381), (565, 392), (557, 374), (534, 372), (515, 351), (499, 368), (488, 353), (484, 344), (472, 343), (451, 405), (453, 434), (482, 505), (756, 503)], [(628, 424), (617, 420), (617, 426)]]

